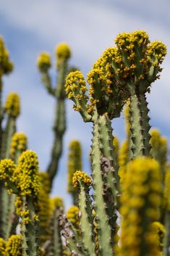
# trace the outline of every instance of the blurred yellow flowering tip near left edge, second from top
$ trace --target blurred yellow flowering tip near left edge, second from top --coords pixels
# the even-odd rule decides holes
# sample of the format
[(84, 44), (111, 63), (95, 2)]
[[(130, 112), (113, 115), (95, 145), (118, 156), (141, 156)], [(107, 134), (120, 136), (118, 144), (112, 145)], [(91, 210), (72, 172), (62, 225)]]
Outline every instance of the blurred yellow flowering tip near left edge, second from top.
[(7, 96), (5, 106), (4, 106), (5, 112), (7, 114), (12, 115), (12, 117), (17, 117), (20, 115), (20, 97), (16, 93), (10, 93)]

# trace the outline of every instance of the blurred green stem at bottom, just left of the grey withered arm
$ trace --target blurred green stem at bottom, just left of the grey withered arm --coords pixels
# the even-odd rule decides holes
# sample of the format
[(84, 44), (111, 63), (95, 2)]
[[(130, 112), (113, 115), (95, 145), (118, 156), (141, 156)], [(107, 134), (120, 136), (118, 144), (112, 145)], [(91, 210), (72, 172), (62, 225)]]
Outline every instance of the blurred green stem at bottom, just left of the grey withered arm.
[(61, 209), (56, 208), (51, 218), (51, 243), (49, 246), (49, 255), (62, 256), (63, 246), (61, 241), (61, 228), (59, 226), (59, 215), (61, 215)]

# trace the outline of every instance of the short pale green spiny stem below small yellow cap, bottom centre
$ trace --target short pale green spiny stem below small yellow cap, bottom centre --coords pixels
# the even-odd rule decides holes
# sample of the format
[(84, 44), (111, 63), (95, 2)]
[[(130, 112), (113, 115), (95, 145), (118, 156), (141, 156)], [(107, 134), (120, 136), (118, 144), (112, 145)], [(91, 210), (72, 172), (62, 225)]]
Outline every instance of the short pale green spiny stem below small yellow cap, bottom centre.
[[(92, 232), (92, 221), (90, 221), (90, 216), (92, 212), (89, 212), (89, 207), (87, 207), (87, 197), (88, 191), (85, 191), (85, 186), (80, 184), (80, 194), (79, 194), (79, 206), (81, 212), (80, 225), (82, 230), (82, 243), (88, 252), (89, 256), (95, 256), (95, 244), (93, 242), (93, 232)], [(89, 206), (89, 204), (88, 204)], [(88, 208), (88, 210), (87, 210)]]

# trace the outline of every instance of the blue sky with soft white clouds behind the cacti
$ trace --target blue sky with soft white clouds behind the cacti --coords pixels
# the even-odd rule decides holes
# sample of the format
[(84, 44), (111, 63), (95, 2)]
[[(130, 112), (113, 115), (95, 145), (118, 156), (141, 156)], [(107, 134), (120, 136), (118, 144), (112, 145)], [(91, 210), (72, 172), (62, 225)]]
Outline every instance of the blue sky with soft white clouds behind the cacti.
[[(20, 94), (22, 114), (17, 131), (27, 134), (29, 149), (38, 154), (40, 170), (46, 170), (50, 159), (55, 102), (43, 87), (35, 62), (41, 51), (48, 51), (55, 62), (55, 46), (63, 41), (72, 49), (70, 64), (79, 67), (85, 77), (101, 53), (114, 45), (117, 33), (141, 29), (151, 41), (163, 41), (168, 54), (148, 101), (150, 124), (170, 139), (169, 9), (169, 0), (0, 0), (0, 35), (14, 62), (13, 73), (4, 78), (3, 99), (12, 91)], [(55, 68), (51, 77), (55, 85)], [(123, 141), (123, 119), (114, 120), (113, 125), (114, 134)], [(80, 140), (83, 170), (89, 172), (91, 125), (82, 122), (67, 100), (64, 154), (52, 191), (53, 196), (64, 197), (66, 208), (72, 205), (67, 194), (67, 154), (72, 139)]]

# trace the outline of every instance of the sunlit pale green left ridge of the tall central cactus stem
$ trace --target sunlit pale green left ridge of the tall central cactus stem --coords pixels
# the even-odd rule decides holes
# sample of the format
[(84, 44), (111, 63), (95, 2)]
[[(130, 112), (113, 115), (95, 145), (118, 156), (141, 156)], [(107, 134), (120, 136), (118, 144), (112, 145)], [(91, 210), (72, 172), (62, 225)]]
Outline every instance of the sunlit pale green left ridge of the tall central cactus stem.
[(93, 189), (95, 212), (98, 223), (98, 240), (102, 255), (112, 255), (111, 252), (111, 228), (106, 215), (106, 205), (103, 199), (103, 178), (101, 170), (101, 150), (98, 139), (100, 139), (98, 122), (93, 124), (93, 144), (92, 144), (92, 168), (93, 168)]

